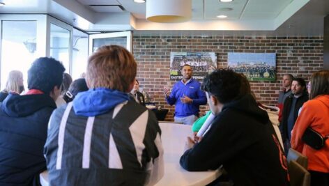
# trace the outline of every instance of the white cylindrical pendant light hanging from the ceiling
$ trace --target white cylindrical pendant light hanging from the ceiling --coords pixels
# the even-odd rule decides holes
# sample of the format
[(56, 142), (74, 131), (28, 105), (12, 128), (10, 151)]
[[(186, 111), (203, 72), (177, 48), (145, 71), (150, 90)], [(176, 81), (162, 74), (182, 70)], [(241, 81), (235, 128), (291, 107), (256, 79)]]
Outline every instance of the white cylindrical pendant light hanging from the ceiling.
[(192, 0), (147, 0), (146, 20), (150, 22), (187, 22), (192, 17)]

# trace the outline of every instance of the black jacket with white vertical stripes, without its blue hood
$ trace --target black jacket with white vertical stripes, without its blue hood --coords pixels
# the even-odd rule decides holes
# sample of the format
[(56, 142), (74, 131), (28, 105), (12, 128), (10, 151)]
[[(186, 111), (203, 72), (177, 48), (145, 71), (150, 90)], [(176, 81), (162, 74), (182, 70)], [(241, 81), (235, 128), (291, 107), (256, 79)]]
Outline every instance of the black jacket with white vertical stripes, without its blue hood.
[(164, 173), (160, 134), (153, 112), (137, 102), (95, 117), (60, 107), (45, 144), (49, 184), (154, 185)]

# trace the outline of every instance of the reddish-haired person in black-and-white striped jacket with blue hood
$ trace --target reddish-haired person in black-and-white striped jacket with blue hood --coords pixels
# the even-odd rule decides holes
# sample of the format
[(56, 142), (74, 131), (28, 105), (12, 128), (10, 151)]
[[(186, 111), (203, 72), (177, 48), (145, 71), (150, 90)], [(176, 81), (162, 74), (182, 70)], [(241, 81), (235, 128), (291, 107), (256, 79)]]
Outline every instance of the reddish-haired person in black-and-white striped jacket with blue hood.
[(158, 121), (128, 95), (136, 72), (132, 54), (117, 45), (89, 57), (89, 91), (56, 109), (49, 121), (49, 185), (154, 185), (162, 178)]

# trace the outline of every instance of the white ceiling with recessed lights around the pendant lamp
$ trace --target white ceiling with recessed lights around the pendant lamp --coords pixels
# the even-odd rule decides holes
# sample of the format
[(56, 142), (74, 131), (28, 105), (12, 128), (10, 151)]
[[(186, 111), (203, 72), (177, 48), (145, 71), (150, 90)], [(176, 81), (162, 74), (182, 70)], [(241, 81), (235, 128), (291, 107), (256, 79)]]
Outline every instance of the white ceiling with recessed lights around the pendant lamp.
[[(192, 0), (189, 22), (159, 24), (146, 21), (146, 3), (132, 0), (1, 1), (6, 6), (0, 13), (48, 13), (86, 31), (135, 30), (137, 35), (323, 35), (323, 17), (329, 14), (329, 0)], [(228, 17), (216, 17), (222, 14)]]

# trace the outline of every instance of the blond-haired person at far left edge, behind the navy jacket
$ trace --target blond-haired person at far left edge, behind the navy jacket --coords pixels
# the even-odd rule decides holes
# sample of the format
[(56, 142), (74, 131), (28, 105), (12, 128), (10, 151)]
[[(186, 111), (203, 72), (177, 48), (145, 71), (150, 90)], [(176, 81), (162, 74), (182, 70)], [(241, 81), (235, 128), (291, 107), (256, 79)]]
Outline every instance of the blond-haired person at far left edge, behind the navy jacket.
[(15, 92), (20, 94), (24, 91), (23, 73), (19, 70), (12, 70), (9, 72), (6, 82), (6, 88), (0, 92), (0, 102), (7, 98), (8, 93)]

